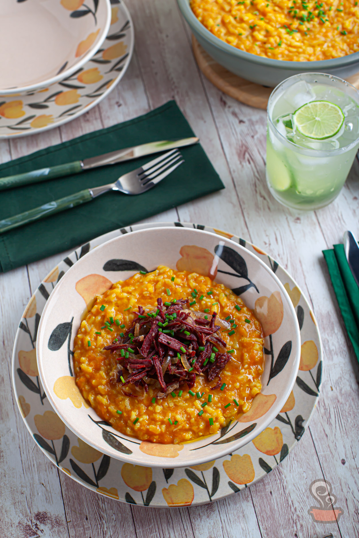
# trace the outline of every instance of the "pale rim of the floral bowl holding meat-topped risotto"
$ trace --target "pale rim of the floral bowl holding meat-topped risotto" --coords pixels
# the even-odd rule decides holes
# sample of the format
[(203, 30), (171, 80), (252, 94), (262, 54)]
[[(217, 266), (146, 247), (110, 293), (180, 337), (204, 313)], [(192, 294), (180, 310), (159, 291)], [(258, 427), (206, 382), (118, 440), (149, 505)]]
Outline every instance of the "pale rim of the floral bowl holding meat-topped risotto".
[[(132, 234), (144, 234), (145, 232), (151, 232), (151, 231), (156, 231), (158, 232), (159, 230), (180, 230), (181, 228), (173, 228), (173, 226), (164, 226), (163, 228), (156, 228), (156, 227), (153, 227), (153, 228), (146, 228), (146, 229), (143, 229), (143, 230), (134, 230), (131, 232), (131, 236)], [(206, 230), (199, 230), (199, 229), (188, 229), (188, 228), (183, 228), (183, 230), (186, 230), (187, 232), (198, 232), (198, 233), (205, 233), (206, 235), (209, 235), (209, 236), (214, 236), (216, 237), (218, 240), (221, 240), (218, 238), (218, 235), (214, 232), (209, 232), (209, 231), (206, 231)], [(82, 258), (80, 258), (76, 264), (78, 262), (80, 262), (82, 259), (85, 259), (87, 257), (89, 257), (91, 255), (91, 253), (93, 252), (100, 252), (101, 251), (101, 248), (103, 248), (105, 245), (108, 245), (110, 243), (113, 243), (115, 241), (118, 241), (120, 240), (122, 237), (124, 236), (128, 236), (128, 234), (125, 234), (125, 235), (122, 235), (122, 236), (118, 236), (118, 237), (115, 237), (115, 238), (112, 238), (112, 239), (109, 239), (108, 241), (106, 241), (105, 243), (102, 243), (101, 245), (98, 245), (96, 247), (96, 249), (93, 249), (93, 250), (90, 250), (87, 254), (85, 254), (85, 256), (82, 256)], [(223, 239), (223, 238), (222, 238)], [(276, 401), (274, 402), (274, 404), (272, 405), (272, 407), (270, 408), (272, 410), (272, 413), (268, 415), (268, 417), (266, 418), (266, 420), (264, 421), (264, 423), (262, 424), (261, 426), (261, 431), (255, 431), (256, 428), (254, 428), (252, 431), (250, 431), (249, 434), (247, 434), (245, 437), (242, 437), (242, 438), (239, 438), (237, 441), (236, 441), (236, 444), (233, 444), (231, 445), (230, 447), (227, 447), (224, 448), (224, 445), (223, 445), (223, 449), (221, 450), (220, 448), (218, 449), (218, 452), (216, 452), (216, 455), (215, 455), (215, 459), (220, 459), (224, 456), (227, 456), (228, 454), (230, 454), (232, 451), (235, 451), (235, 450), (238, 450), (240, 448), (242, 448), (245, 444), (251, 442), (255, 437), (257, 437), (259, 434), (262, 433), (262, 431), (265, 430), (265, 428), (268, 428), (269, 424), (273, 421), (273, 419), (275, 418), (275, 416), (278, 414), (279, 410), (283, 407), (283, 405), (285, 404), (286, 400), (288, 399), (291, 391), (292, 391), (292, 388), (294, 386), (294, 383), (295, 383), (295, 379), (297, 378), (297, 374), (298, 374), (298, 370), (299, 370), (299, 362), (300, 362), (300, 350), (301, 350), (301, 337), (300, 337), (300, 329), (299, 329), (299, 323), (298, 323), (298, 318), (297, 318), (297, 314), (295, 313), (295, 309), (293, 307), (293, 303), (290, 299), (290, 296), (288, 295), (285, 287), (283, 284), (281, 284), (279, 278), (276, 276), (276, 274), (274, 274), (272, 272), (272, 270), (270, 269), (270, 267), (268, 267), (264, 261), (262, 261), (260, 258), (258, 258), (254, 253), (250, 252), (248, 249), (246, 249), (244, 246), (240, 245), (240, 244), (237, 244), (235, 243), (234, 241), (231, 241), (231, 239), (229, 238), (224, 238), (224, 240), (226, 240), (227, 242), (229, 243), (234, 243), (236, 245), (236, 247), (238, 247), (238, 249), (242, 252), (244, 252), (245, 254), (247, 254), (250, 258), (252, 258), (253, 260), (255, 260), (259, 265), (262, 266), (262, 268), (270, 275), (270, 277), (274, 280), (274, 282), (276, 282), (277, 286), (279, 287), (281, 293), (283, 294), (284, 296), (284, 299), (286, 300), (287, 302), (287, 306), (288, 308), (290, 309), (290, 312), (291, 312), (291, 317), (293, 318), (294, 320), (294, 329), (295, 329), (295, 337), (296, 337), (296, 342), (297, 342), (297, 349), (295, 351), (295, 358), (294, 358), (294, 368), (293, 368), (293, 373), (290, 377), (290, 381), (289, 381), (289, 385), (287, 385), (287, 390), (283, 393), (282, 397), (279, 399), (277, 398)], [(94, 447), (96, 448), (96, 450), (99, 450), (100, 452), (102, 452), (103, 454), (107, 454), (108, 456), (110, 457), (113, 457), (115, 459), (118, 459), (120, 461), (123, 461), (123, 462), (126, 462), (126, 463), (135, 463), (137, 465), (143, 465), (143, 462), (142, 460), (140, 459), (140, 456), (136, 456), (136, 455), (133, 455), (133, 452), (131, 455), (125, 455), (125, 454), (122, 454), (122, 453), (118, 453), (118, 454), (114, 454), (114, 452), (111, 452), (109, 450), (107, 450), (107, 447), (102, 447), (96, 443), (94, 443), (92, 440), (90, 440), (88, 437), (86, 437), (85, 435), (83, 435), (82, 433), (80, 433), (74, 426), (73, 424), (69, 423), (65, 418), (64, 416), (62, 415), (62, 413), (60, 412), (59, 408), (58, 408), (58, 405), (57, 403), (55, 402), (54, 398), (53, 398), (53, 394), (52, 394), (52, 390), (51, 388), (48, 386), (47, 382), (45, 382), (45, 378), (44, 378), (44, 372), (43, 372), (43, 363), (41, 362), (40, 360), (40, 345), (42, 344), (42, 341), (43, 341), (43, 338), (41, 337), (42, 333), (43, 333), (43, 326), (44, 326), (44, 321), (45, 321), (45, 318), (46, 318), (46, 312), (47, 312), (47, 309), (50, 305), (50, 302), (51, 302), (51, 299), (53, 298), (53, 296), (55, 295), (55, 291), (57, 291), (59, 293), (60, 291), (60, 288), (61, 288), (61, 284), (63, 282), (65, 282), (65, 277), (66, 275), (68, 274), (72, 274), (72, 272), (74, 271), (74, 266), (76, 265), (74, 264), (72, 267), (69, 268), (69, 270), (65, 273), (64, 277), (62, 277), (62, 279), (59, 281), (58, 285), (54, 287), (54, 289), (52, 290), (50, 296), (48, 297), (47, 301), (46, 301), (46, 304), (44, 306), (44, 309), (43, 309), (43, 312), (41, 313), (41, 318), (40, 318), (40, 322), (39, 322), (39, 327), (38, 327), (38, 332), (37, 332), (37, 341), (36, 341), (36, 359), (37, 359), (37, 365), (38, 365), (38, 371), (39, 371), (39, 377), (40, 377), (40, 381), (41, 381), (41, 385), (43, 386), (43, 389), (45, 391), (45, 394), (48, 398), (48, 401), (50, 402), (51, 406), (54, 408), (55, 412), (58, 414), (58, 416), (60, 417), (60, 419), (66, 424), (66, 426), (75, 434), (77, 435), (78, 437), (80, 437), (82, 439), (82, 441), (86, 442), (87, 444), (89, 444), (91, 447)], [(64, 279), (64, 280), (63, 280)], [(73, 376), (75, 377), (75, 376)], [(62, 400), (61, 400), (62, 401)], [(82, 406), (81, 406), (82, 408)], [(90, 409), (93, 409), (91, 406), (90, 406)], [(275, 411), (275, 413), (274, 413)], [(95, 412), (96, 413), (96, 412)], [(98, 415), (97, 415), (98, 416)], [(109, 426), (111, 427), (111, 426)], [(125, 435), (125, 434), (124, 434)], [(210, 436), (210, 437), (214, 437), (215, 435), (218, 435), (218, 432), (217, 434), (214, 434), (213, 436)], [(206, 438), (209, 438), (209, 437), (206, 437)], [(135, 437), (135, 439), (137, 441), (140, 441), (137, 437)], [(243, 441), (242, 440), (245, 440), (245, 443), (242, 444)], [(195, 440), (195, 441), (198, 441), (198, 440)], [(185, 443), (187, 444), (187, 443)], [(228, 444), (231, 444), (231, 443), (228, 443)], [(199, 451), (201, 448), (205, 448), (205, 447), (199, 447), (198, 450), (196, 451), (196, 454), (199, 454)], [(121, 454), (121, 455), (120, 455)], [(195, 455), (193, 455), (195, 456)], [(145, 466), (147, 465), (150, 465), (151, 467), (156, 467), (156, 468), (160, 468), (162, 469), (164, 464), (166, 463), (164, 460), (167, 460), (167, 458), (165, 458), (164, 456), (160, 456), (160, 457), (156, 457), (156, 459), (153, 459), (150, 463), (146, 463)], [(210, 458), (208, 459), (208, 456), (206, 457), (197, 457), (192, 460), (189, 460), (187, 458), (187, 462), (186, 462), (186, 465), (183, 464), (183, 462), (175, 462), (175, 461), (171, 461), (171, 467), (172, 468), (181, 468), (181, 467), (188, 467), (190, 465), (199, 465), (201, 463), (206, 463), (208, 461), (210, 461), (211, 459), (213, 459), (213, 455), (210, 456)]]

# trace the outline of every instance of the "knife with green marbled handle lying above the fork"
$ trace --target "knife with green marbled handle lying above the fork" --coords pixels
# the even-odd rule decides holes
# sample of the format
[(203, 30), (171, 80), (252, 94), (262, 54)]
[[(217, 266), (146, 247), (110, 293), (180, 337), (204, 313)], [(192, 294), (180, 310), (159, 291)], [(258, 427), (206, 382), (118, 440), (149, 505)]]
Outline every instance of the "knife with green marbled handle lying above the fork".
[(141, 144), (140, 146), (126, 147), (123, 150), (111, 151), (110, 153), (104, 153), (103, 155), (97, 155), (97, 157), (90, 157), (82, 161), (66, 162), (63, 165), (40, 168), (39, 170), (25, 172), (24, 174), (9, 175), (6, 178), (0, 178), (0, 190), (19, 187), (20, 185), (30, 185), (30, 183), (39, 183), (40, 181), (47, 181), (48, 179), (59, 178), (64, 175), (78, 174), (91, 168), (97, 168), (98, 166), (114, 165), (117, 162), (137, 159), (144, 157), (144, 155), (159, 153), (160, 151), (172, 150), (175, 147), (191, 146), (198, 142), (199, 138), (197, 137), (181, 138), (179, 140), (160, 140), (158, 142)]

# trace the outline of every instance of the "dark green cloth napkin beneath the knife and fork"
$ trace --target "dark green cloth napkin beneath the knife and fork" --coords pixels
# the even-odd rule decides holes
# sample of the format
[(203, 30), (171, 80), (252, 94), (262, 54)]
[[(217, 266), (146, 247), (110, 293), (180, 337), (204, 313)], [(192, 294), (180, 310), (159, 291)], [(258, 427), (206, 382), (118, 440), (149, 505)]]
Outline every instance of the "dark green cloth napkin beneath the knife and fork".
[[(177, 104), (169, 101), (148, 114), (84, 134), (0, 165), (0, 177), (94, 157), (156, 140), (194, 136)], [(224, 188), (200, 144), (180, 149), (185, 162), (157, 187), (139, 196), (110, 192), (38, 222), (0, 235), (0, 272), (72, 249), (102, 233), (122, 228)], [(154, 159), (142, 157), (65, 178), (0, 193), (0, 220), (79, 190), (105, 185)]]

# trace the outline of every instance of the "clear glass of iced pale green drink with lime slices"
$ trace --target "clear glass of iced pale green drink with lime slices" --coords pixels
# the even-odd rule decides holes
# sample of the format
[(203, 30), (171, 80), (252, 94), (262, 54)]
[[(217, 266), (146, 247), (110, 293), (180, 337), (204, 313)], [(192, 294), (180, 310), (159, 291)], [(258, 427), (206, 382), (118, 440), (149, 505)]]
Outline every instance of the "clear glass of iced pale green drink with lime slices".
[(347, 179), (359, 146), (359, 93), (332, 75), (294, 75), (268, 102), (266, 179), (279, 202), (318, 209)]

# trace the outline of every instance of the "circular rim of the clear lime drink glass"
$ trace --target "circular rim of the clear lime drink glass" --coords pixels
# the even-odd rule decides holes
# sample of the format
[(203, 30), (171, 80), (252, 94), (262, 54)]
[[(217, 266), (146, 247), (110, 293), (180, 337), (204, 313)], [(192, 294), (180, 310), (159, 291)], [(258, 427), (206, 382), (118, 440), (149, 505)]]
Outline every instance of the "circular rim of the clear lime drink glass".
[[(274, 123), (272, 121), (272, 118), (271, 118), (270, 111), (269, 111), (269, 105), (270, 105), (272, 96), (280, 88), (280, 86), (282, 86), (285, 82), (287, 82), (290, 79), (294, 79), (294, 77), (299, 78), (299, 77), (301, 77), (303, 75), (313, 75), (313, 76), (321, 75), (321, 76), (325, 76), (325, 77), (332, 77), (333, 79), (339, 80), (340, 82), (342, 82), (344, 84), (347, 84), (349, 87), (353, 88), (353, 90), (357, 93), (357, 95), (358, 95), (357, 105), (359, 107), (359, 91), (355, 88), (355, 86), (353, 86), (353, 84), (350, 84), (350, 82), (348, 82), (348, 81), (346, 81), (344, 79), (341, 79), (339, 76), (330, 75), (328, 73), (320, 73), (320, 72), (318, 72), (318, 73), (307, 72), (307, 73), (298, 73), (296, 75), (291, 75), (291, 76), (288, 76), (287, 79), (284, 79), (283, 81), (281, 81), (273, 89), (273, 91), (270, 94), (269, 99), (268, 99), (267, 118), (268, 118), (268, 122), (271, 124), (271, 126), (272, 126), (272, 128), (274, 130), (274, 134), (277, 136), (277, 138), (279, 138), (279, 140), (282, 143), (284, 142), (285, 145), (288, 145), (290, 148), (295, 148), (295, 150), (297, 152), (299, 151), (299, 153), (303, 153), (304, 155), (308, 155), (308, 156), (319, 157), (319, 156), (322, 156), (322, 155), (327, 155), (328, 153), (330, 155), (332, 155), (333, 153), (345, 153), (346, 151), (349, 151), (349, 149), (351, 149), (352, 147), (354, 147), (356, 144), (359, 143), (359, 134), (358, 134), (357, 138), (355, 140), (353, 140), (352, 142), (350, 142), (350, 144), (348, 144), (347, 146), (337, 147), (337, 148), (334, 147), (332, 150), (314, 150), (311, 147), (303, 147), (303, 146), (299, 146), (298, 144), (294, 144), (294, 142), (291, 142), (291, 140), (288, 140), (286, 137), (284, 137), (283, 134), (281, 134), (278, 131), (278, 129), (276, 128), (276, 126), (274, 125)], [(313, 140), (315, 140), (315, 139), (313, 138)], [(315, 153), (315, 155), (313, 155), (313, 153)], [(320, 154), (320, 155), (318, 155), (318, 154)]]

